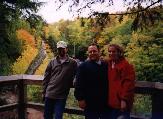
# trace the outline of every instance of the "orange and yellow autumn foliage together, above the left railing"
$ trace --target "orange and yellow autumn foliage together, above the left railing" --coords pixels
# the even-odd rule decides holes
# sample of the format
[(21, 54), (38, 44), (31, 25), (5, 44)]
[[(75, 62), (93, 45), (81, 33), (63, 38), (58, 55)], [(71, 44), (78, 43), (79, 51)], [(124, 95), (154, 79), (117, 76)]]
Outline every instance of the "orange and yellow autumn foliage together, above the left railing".
[(24, 51), (22, 52), (21, 56), (16, 59), (16, 62), (12, 65), (12, 73), (23, 74), (28, 69), (32, 60), (38, 54), (38, 49), (35, 45), (34, 36), (31, 35), (28, 31), (24, 29), (18, 30), (17, 38), (24, 42)]

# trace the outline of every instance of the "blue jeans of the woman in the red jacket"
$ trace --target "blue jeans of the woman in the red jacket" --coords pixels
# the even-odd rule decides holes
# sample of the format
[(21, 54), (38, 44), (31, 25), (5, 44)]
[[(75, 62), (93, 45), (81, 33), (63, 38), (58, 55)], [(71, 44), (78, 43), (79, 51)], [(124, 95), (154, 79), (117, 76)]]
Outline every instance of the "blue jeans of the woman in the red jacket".
[(120, 111), (119, 109), (111, 108), (109, 112), (109, 119), (130, 119), (130, 112), (128, 111)]

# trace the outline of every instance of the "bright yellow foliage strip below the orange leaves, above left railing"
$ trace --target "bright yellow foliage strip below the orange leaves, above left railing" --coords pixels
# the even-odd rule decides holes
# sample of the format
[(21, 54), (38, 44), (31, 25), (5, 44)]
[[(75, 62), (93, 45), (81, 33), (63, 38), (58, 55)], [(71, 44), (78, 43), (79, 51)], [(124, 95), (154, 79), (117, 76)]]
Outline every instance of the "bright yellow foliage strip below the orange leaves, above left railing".
[(24, 50), (22, 55), (12, 65), (13, 74), (24, 74), (37, 54), (37, 49), (31, 47), (30, 45), (27, 45), (26, 50)]

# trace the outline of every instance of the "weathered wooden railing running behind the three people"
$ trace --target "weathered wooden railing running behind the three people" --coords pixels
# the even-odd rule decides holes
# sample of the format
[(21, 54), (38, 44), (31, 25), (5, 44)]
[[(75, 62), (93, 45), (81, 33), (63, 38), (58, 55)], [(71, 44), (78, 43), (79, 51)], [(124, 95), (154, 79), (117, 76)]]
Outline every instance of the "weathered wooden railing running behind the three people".
[[(33, 108), (37, 110), (43, 110), (44, 104), (31, 103), (27, 101), (27, 85), (42, 85), (43, 76), (40, 75), (12, 75), (12, 76), (0, 76), (0, 87), (8, 85), (17, 85), (18, 89), (18, 102), (9, 105), (0, 106), (0, 112), (18, 110), (18, 119), (27, 118), (27, 108)], [(136, 82), (136, 94), (149, 94), (152, 96), (152, 113), (155, 113), (158, 106), (158, 100), (156, 97), (163, 95), (163, 83), (159, 82)], [(158, 95), (159, 94), (159, 95)], [(162, 101), (162, 100), (160, 100)], [(66, 108), (65, 113), (83, 115), (83, 111), (75, 108)], [(142, 119), (137, 115), (131, 115), (134, 119)]]

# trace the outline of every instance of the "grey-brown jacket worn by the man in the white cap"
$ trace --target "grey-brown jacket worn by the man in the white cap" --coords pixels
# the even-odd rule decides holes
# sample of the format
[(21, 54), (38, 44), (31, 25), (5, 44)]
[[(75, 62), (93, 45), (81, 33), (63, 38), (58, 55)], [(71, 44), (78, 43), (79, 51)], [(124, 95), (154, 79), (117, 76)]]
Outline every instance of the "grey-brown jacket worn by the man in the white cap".
[(48, 64), (43, 79), (43, 95), (51, 99), (65, 99), (73, 84), (77, 63), (70, 57), (61, 63), (59, 57)]

